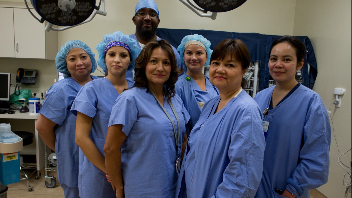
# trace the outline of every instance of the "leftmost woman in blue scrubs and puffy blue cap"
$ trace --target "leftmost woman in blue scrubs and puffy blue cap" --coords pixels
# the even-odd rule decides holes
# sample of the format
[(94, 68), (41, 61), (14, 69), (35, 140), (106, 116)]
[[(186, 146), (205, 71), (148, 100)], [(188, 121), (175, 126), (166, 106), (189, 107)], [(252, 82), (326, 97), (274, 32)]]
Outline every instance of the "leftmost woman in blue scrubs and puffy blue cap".
[(76, 116), (71, 105), (78, 91), (96, 69), (92, 50), (83, 42), (65, 43), (57, 53), (56, 68), (64, 79), (56, 82), (46, 93), (36, 128), (44, 143), (55, 150), (57, 177), (66, 198), (78, 197), (78, 146), (75, 143)]

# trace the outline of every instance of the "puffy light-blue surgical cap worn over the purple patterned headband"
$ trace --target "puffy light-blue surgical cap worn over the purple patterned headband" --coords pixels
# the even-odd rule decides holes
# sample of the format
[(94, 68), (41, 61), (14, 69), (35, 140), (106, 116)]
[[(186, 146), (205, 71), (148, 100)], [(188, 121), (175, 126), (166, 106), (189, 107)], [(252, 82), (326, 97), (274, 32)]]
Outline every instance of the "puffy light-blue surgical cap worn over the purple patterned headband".
[(99, 58), (97, 61), (99, 64), (99, 67), (101, 67), (106, 74), (108, 73), (106, 63), (105, 63), (104, 50), (105, 50), (106, 45), (112, 41), (120, 41), (122, 43), (125, 43), (131, 49), (131, 52), (132, 52), (131, 63), (130, 63), (130, 65), (128, 65), (127, 71), (133, 70), (134, 69), (134, 60), (136, 60), (136, 58), (139, 55), (141, 50), (140, 50), (140, 47), (137, 45), (136, 40), (134, 40), (133, 38), (130, 38), (130, 36), (128, 36), (128, 35), (124, 35), (120, 31), (114, 32), (112, 34), (104, 35), (103, 42), (96, 45), (95, 49), (98, 51), (98, 54), (99, 54)]

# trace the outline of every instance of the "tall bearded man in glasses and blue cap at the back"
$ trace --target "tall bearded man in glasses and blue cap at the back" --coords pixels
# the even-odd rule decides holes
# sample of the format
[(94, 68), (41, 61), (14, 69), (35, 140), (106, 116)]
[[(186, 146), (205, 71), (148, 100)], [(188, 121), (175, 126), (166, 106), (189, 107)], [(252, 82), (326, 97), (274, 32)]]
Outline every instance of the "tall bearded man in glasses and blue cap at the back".
[[(132, 20), (134, 25), (136, 25), (136, 33), (130, 35), (130, 37), (136, 39), (137, 45), (139, 45), (141, 49), (143, 49), (145, 44), (150, 41), (161, 40), (160, 37), (155, 35), (156, 29), (160, 23), (159, 10), (155, 1), (139, 0), (136, 5), (136, 9), (134, 10), (134, 16), (132, 17)], [(171, 47), (172, 50), (174, 50), (176, 56), (177, 68), (183, 68), (180, 62), (180, 54), (178, 54), (175, 47)], [(130, 78), (128, 72), (126, 76), (126, 78)]]

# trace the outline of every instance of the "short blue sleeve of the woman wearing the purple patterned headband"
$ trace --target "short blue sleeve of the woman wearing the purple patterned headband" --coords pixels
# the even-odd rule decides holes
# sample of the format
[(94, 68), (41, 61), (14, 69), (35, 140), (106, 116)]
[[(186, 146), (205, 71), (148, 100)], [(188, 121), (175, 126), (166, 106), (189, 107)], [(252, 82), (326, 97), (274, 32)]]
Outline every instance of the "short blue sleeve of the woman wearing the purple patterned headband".
[(95, 116), (98, 97), (95, 91), (92, 91), (90, 83), (84, 85), (77, 94), (72, 104), (71, 112), (77, 116), (77, 111), (91, 118)]

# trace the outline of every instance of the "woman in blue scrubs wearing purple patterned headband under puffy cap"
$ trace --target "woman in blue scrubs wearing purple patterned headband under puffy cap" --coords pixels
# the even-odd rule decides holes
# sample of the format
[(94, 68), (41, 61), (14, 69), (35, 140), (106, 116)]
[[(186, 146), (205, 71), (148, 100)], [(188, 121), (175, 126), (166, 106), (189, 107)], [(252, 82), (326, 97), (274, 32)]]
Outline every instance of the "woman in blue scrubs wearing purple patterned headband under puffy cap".
[(134, 68), (140, 48), (134, 39), (122, 32), (103, 36), (96, 46), (99, 67), (107, 74), (82, 87), (72, 105), (77, 115), (76, 143), (80, 147), (80, 197), (116, 197), (114, 185), (107, 182), (103, 146), (109, 117), (115, 99), (133, 86), (126, 80), (127, 70)]

